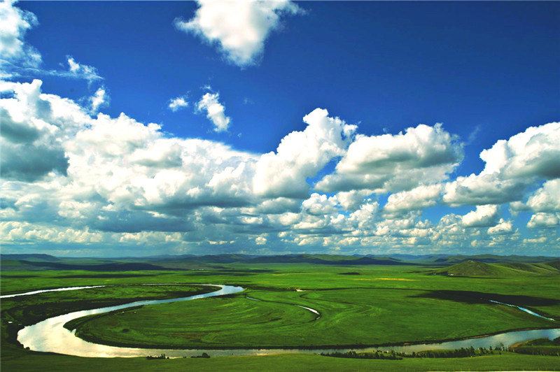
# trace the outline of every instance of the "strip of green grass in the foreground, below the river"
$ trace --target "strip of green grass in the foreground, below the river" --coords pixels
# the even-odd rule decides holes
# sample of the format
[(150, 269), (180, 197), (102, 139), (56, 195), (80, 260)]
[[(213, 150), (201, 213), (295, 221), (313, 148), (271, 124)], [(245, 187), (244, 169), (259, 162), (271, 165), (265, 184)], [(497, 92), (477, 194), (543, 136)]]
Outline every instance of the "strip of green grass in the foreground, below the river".
[(2, 359), (0, 366), (3, 371), (558, 371), (560, 358), (510, 352), (472, 358), (402, 360), (344, 359), (302, 354), (165, 360), (34, 355)]

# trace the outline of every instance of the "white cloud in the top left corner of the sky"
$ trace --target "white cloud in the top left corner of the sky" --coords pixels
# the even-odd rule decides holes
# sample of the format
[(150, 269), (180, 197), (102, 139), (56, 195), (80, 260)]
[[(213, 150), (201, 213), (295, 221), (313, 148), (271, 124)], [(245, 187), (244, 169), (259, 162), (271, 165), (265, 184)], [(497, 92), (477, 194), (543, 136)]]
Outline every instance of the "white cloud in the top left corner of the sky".
[(27, 67), (36, 67), (41, 64), (41, 54), (28, 45), (24, 38), (29, 29), (38, 24), (37, 17), (27, 11), (13, 6), (16, 1), (6, 0), (0, 2), (0, 74), (6, 64), (18, 64)]

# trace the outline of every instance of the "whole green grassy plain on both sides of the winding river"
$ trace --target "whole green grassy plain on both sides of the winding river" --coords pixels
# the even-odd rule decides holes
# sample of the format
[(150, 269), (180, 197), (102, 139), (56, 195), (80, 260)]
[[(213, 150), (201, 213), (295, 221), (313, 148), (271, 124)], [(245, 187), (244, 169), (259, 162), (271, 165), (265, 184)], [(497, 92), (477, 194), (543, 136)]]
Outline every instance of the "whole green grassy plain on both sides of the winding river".
[[(225, 298), (144, 306), (82, 318), (75, 324), (77, 334), (113, 345), (272, 348), (436, 341), (555, 325), (514, 308), (488, 303), (488, 299), (516, 303), (560, 319), (557, 273), (506, 271), (507, 276), (483, 278), (429, 275), (432, 271), (423, 266), (275, 263), (207, 265), (186, 271), (4, 271), (0, 277), (2, 294), (76, 285), (109, 287), (3, 299), (1, 367), (5, 371), (25, 371), (36, 366), (52, 370), (309, 370), (310, 366), (317, 370), (560, 369), (559, 357), (509, 352), (401, 361), (316, 355), (148, 361), (45, 355), (23, 350), (15, 341), (20, 327), (52, 315), (204, 291), (193, 283), (241, 285), (246, 291)], [(139, 285), (144, 283), (181, 285)], [(316, 320), (316, 315), (295, 305), (314, 308), (321, 317)]]

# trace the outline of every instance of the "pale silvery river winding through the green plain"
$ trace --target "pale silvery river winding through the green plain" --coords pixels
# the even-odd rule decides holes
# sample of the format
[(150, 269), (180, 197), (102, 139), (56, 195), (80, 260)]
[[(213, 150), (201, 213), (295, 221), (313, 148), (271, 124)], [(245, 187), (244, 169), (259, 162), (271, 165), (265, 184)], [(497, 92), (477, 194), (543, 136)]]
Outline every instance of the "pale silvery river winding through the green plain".
[[(560, 337), (560, 328), (556, 329), (531, 329), (526, 331), (509, 331), (491, 336), (480, 336), (473, 338), (465, 338), (458, 341), (446, 341), (441, 343), (421, 343), (410, 345), (395, 345), (395, 346), (377, 346), (374, 348), (336, 348), (336, 349), (221, 349), (221, 350), (204, 350), (204, 349), (148, 349), (148, 348), (121, 348), (118, 346), (101, 345), (97, 343), (90, 343), (78, 338), (74, 331), (69, 331), (64, 328), (64, 324), (79, 317), (87, 315), (109, 313), (110, 311), (131, 308), (134, 306), (143, 305), (156, 305), (158, 303), (172, 303), (178, 301), (190, 301), (195, 299), (204, 299), (207, 297), (223, 296), (225, 294), (234, 294), (244, 290), (242, 287), (235, 287), (232, 285), (207, 285), (209, 287), (216, 287), (218, 290), (208, 292), (205, 294), (197, 294), (194, 296), (180, 297), (176, 299), (162, 299), (162, 300), (148, 300), (148, 301), (134, 301), (125, 303), (118, 306), (108, 306), (105, 308), (97, 308), (92, 310), (80, 310), (73, 313), (58, 315), (50, 317), (46, 320), (36, 324), (27, 326), (18, 332), (18, 341), (34, 351), (41, 352), (56, 352), (65, 355), (75, 355), (78, 357), (146, 357), (146, 355), (160, 355), (165, 354), (168, 357), (189, 357), (193, 355), (200, 355), (202, 352), (212, 357), (229, 356), (229, 355), (274, 355), (274, 354), (288, 354), (288, 353), (307, 353), (317, 354), (321, 352), (346, 352), (356, 350), (358, 352), (368, 352), (374, 350), (395, 350), (397, 352), (419, 352), (422, 350), (445, 350), (445, 349), (458, 349), (458, 348), (496, 348), (500, 346), (510, 346), (514, 343), (522, 341), (533, 340), (535, 338), (549, 338), (553, 339)], [(93, 287), (103, 286), (90, 286), (90, 287), (66, 287), (59, 289), (43, 289), (39, 291), (26, 292), (22, 294), (10, 294), (0, 296), (0, 298), (15, 297), (32, 295), (43, 292), (57, 292), (63, 290), (79, 290)], [(501, 304), (501, 303), (500, 303)], [(512, 306), (506, 303), (503, 305)], [(296, 305), (298, 306), (298, 305)], [(320, 317), (320, 314), (312, 309), (300, 306), (306, 310), (315, 313)], [(516, 306), (517, 307), (517, 306)], [(531, 312), (533, 313), (533, 312)], [(542, 317), (534, 313), (533, 315)], [(317, 318), (318, 319), (318, 318)]]

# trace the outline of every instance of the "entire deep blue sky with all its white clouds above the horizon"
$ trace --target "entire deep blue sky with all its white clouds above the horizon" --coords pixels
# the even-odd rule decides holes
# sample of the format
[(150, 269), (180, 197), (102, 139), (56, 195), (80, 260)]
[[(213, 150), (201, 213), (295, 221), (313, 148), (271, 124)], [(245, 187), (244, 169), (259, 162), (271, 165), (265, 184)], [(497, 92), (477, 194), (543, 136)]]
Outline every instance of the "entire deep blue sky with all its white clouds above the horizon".
[(3, 253), (560, 253), (560, 3), (0, 16)]

